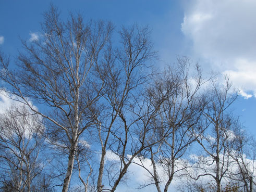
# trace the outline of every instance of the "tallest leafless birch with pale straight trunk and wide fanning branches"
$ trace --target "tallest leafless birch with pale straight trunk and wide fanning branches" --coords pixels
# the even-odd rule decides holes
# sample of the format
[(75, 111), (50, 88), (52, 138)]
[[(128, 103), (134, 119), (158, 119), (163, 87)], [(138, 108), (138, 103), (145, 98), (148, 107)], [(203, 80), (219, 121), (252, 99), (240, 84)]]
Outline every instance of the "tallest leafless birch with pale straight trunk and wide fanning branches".
[[(52, 143), (67, 148), (66, 192), (79, 137), (94, 122), (90, 108), (104, 86), (94, 71), (108, 57), (104, 50), (110, 46), (113, 26), (102, 21), (86, 23), (81, 15), (72, 14), (64, 22), (54, 6), (44, 18), (40, 39), (22, 42), (17, 70), (10, 70), (9, 59), (0, 54), (0, 76), (7, 92), (50, 122), (47, 132)], [(35, 110), (28, 98), (44, 104), (44, 110)]]

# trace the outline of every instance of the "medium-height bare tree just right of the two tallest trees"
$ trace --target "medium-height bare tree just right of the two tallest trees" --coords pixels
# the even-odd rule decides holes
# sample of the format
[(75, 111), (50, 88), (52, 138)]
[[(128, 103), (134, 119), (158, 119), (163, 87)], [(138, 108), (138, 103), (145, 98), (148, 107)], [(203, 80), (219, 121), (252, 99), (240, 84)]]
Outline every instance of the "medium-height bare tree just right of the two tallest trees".
[(152, 170), (143, 165), (144, 157), (138, 164), (151, 175), (150, 184), (154, 184), (159, 192), (162, 191), (161, 183), (164, 183), (163, 190), (167, 191), (174, 175), (186, 168), (186, 164), (181, 163), (182, 157), (195, 141), (191, 129), (196, 129), (205, 105), (199, 94), (205, 80), (198, 65), (196, 75), (191, 76), (190, 64), (189, 58), (179, 57), (177, 66), (169, 67), (159, 74), (150, 89), (152, 100), (167, 95), (157, 113), (155, 124), (162, 142), (148, 148)]

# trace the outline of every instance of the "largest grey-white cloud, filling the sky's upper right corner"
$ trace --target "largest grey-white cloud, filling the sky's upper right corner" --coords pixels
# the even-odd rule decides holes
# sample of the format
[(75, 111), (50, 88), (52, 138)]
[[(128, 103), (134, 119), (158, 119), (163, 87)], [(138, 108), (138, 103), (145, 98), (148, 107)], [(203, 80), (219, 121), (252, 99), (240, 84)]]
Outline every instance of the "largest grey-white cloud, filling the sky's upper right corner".
[(256, 96), (255, 8), (253, 0), (190, 1), (181, 24), (192, 53), (229, 74), (245, 98)]

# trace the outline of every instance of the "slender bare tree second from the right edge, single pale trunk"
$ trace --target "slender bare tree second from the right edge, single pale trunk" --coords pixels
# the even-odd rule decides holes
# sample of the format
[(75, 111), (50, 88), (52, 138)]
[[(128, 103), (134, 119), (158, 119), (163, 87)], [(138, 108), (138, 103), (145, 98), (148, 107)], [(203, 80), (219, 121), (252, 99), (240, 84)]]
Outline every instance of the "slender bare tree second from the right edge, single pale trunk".
[(201, 125), (203, 129), (207, 129), (202, 134), (194, 132), (203, 152), (193, 164), (196, 169), (192, 172), (196, 180), (201, 176), (213, 178), (216, 182), (216, 191), (221, 192), (222, 180), (227, 176), (233, 162), (228, 152), (232, 148), (237, 119), (229, 109), (238, 94), (231, 90), (231, 83), (226, 76), (224, 84), (221, 85), (213, 79), (208, 94), (208, 104), (203, 111), (204, 119)]

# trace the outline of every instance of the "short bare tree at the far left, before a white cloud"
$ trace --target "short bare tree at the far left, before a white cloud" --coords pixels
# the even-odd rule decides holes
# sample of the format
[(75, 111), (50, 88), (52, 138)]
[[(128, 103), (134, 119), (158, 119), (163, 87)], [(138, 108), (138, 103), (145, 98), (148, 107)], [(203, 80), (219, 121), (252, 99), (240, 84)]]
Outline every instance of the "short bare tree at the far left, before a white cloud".
[[(13, 107), (0, 116), (1, 180), (9, 191), (33, 191), (43, 174), (42, 118), (24, 106)], [(6, 190), (6, 189), (5, 189)], [(41, 191), (39, 188), (36, 191)]]

